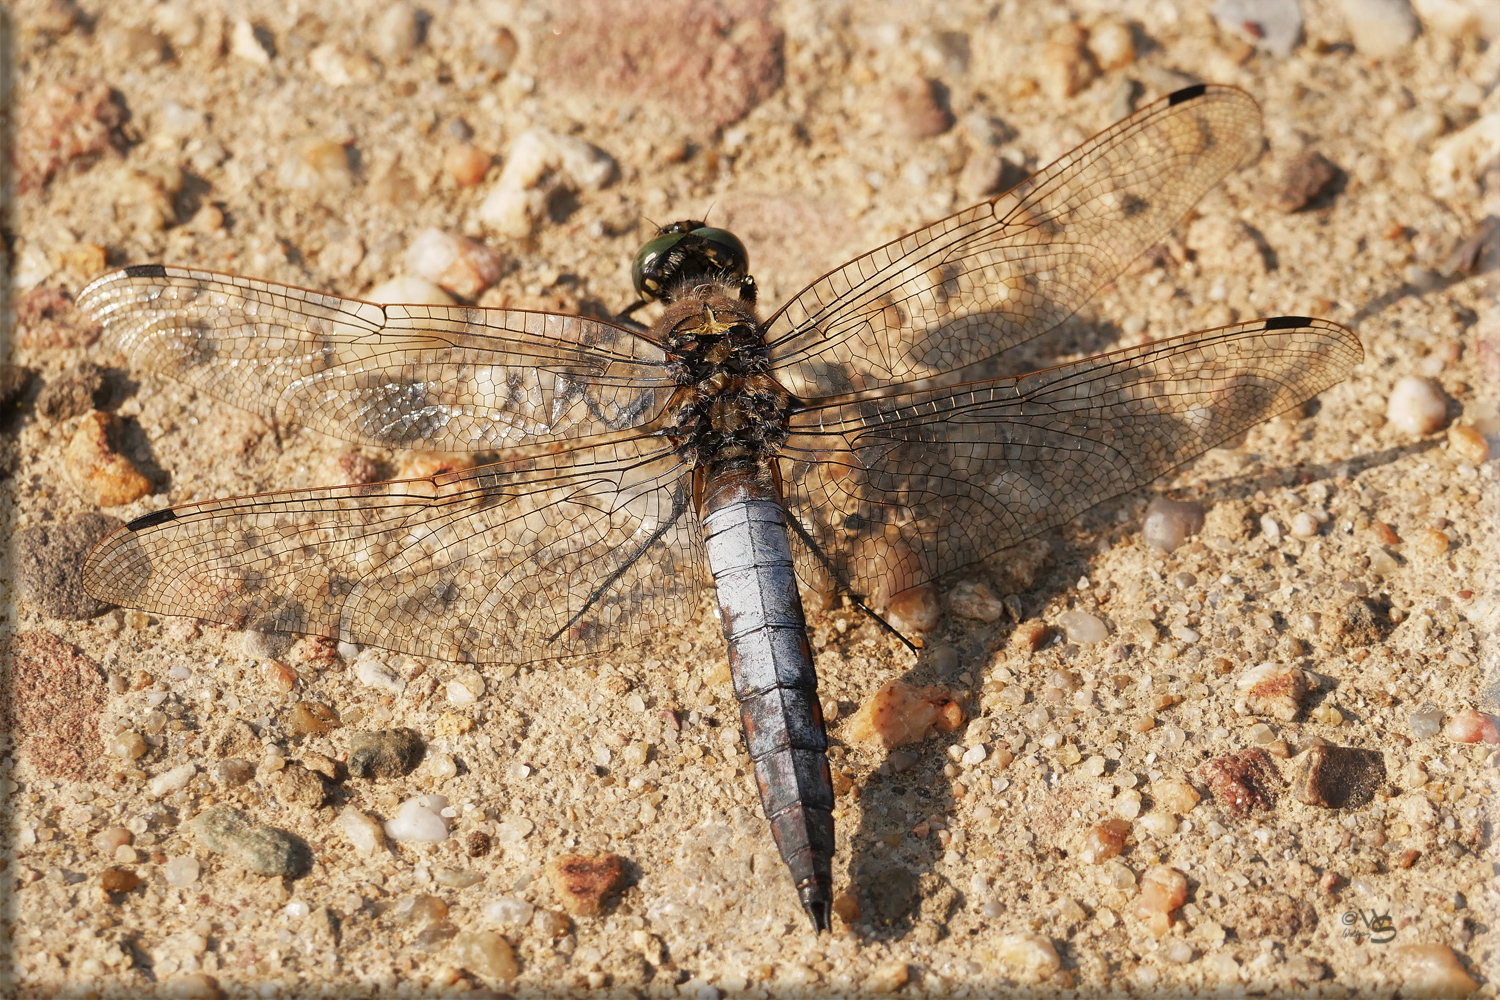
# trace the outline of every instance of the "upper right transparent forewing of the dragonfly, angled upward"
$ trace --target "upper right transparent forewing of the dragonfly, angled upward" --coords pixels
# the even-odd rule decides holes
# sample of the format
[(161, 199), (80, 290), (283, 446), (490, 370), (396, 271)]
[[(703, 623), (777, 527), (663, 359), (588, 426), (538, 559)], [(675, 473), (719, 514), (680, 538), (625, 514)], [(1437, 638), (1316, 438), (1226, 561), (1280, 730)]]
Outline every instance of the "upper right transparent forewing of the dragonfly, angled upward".
[(1260, 108), (1190, 87), (994, 201), (849, 261), (766, 324), (777, 378), (822, 399), (954, 372), (1052, 330), (1260, 148)]

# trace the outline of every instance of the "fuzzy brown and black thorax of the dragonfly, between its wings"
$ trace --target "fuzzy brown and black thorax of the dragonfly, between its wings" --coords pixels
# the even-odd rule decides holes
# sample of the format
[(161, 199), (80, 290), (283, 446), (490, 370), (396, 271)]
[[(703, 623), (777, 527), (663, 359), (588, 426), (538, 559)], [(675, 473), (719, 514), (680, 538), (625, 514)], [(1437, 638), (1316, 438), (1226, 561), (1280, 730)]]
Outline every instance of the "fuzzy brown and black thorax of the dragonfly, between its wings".
[(729, 282), (676, 297), (654, 334), (670, 352), (682, 387), (668, 435), (684, 460), (711, 466), (780, 447), (790, 394), (771, 376), (753, 307)]

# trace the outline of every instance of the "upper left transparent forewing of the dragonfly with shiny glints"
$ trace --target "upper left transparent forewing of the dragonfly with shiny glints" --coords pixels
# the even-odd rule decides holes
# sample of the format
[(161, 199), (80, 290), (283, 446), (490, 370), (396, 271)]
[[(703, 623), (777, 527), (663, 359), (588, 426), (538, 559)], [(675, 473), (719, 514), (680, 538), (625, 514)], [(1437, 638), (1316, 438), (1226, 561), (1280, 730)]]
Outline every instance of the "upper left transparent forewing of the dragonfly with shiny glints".
[(354, 444), (490, 451), (644, 424), (660, 348), (584, 316), (354, 298), (159, 264), (78, 304), (136, 367)]

